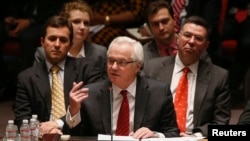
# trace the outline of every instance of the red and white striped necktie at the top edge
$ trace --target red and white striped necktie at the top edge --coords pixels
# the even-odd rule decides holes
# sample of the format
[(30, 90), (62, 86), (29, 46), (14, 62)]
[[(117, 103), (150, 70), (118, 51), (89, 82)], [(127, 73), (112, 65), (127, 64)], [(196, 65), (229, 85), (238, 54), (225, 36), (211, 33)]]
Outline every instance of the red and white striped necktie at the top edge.
[(173, 10), (176, 16), (175, 32), (179, 32), (181, 26), (180, 14), (181, 10), (185, 7), (186, 0), (175, 0), (173, 3)]

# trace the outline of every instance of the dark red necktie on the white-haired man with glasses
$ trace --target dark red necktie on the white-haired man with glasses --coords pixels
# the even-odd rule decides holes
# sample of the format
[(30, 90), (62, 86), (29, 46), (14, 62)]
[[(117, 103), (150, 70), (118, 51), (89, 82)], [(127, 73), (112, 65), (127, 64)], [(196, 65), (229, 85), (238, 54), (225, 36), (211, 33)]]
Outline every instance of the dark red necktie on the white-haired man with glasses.
[(119, 116), (117, 120), (116, 135), (128, 136), (129, 135), (129, 104), (127, 98), (127, 90), (122, 90), (121, 95), (123, 100), (121, 103)]

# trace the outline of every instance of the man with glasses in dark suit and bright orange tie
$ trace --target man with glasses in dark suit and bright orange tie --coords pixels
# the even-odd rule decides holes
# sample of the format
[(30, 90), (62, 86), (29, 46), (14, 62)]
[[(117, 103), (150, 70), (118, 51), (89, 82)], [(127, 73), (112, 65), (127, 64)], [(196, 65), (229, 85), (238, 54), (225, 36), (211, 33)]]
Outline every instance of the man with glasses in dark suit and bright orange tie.
[(208, 36), (207, 23), (191, 16), (180, 30), (177, 55), (155, 58), (144, 64), (145, 75), (171, 85), (174, 99), (182, 69), (189, 68), (186, 132), (181, 136), (207, 136), (207, 125), (228, 124), (230, 119), (228, 72), (200, 59), (209, 45)]

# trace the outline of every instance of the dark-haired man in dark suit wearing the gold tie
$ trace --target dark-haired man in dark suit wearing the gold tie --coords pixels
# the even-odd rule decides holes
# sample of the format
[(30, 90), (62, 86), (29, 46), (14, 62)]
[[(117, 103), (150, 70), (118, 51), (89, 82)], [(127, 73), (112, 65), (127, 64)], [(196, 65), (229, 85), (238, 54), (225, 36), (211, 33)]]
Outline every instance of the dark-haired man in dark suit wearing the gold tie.
[(63, 126), (63, 117), (52, 121), (52, 66), (60, 68), (58, 75), (63, 82), (65, 105), (69, 105), (69, 92), (73, 82), (83, 81), (84, 84), (88, 84), (102, 78), (103, 68), (98, 64), (88, 59), (67, 57), (72, 38), (73, 28), (67, 19), (60, 16), (48, 19), (41, 38), (46, 60), (22, 71), (18, 77), (14, 103), (17, 125), (20, 126), (23, 119), (30, 119), (32, 114), (37, 114), (38, 120), (42, 122), (42, 133)]

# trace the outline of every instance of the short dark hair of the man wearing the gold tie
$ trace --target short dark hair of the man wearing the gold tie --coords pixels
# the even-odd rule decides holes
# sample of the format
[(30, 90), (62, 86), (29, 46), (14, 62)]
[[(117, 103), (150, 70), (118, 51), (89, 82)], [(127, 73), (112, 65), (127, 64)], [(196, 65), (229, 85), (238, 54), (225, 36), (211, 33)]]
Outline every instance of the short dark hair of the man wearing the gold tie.
[(67, 27), (69, 29), (69, 39), (70, 43), (72, 43), (73, 40), (73, 27), (72, 24), (68, 21), (67, 18), (62, 17), (62, 16), (52, 16), (50, 17), (44, 24), (43, 26), (43, 31), (42, 31), (42, 37), (45, 38), (47, 34), (47, 28), (48, 27), (54, 27), (54, 28), (59, 28), (59, 27)]

